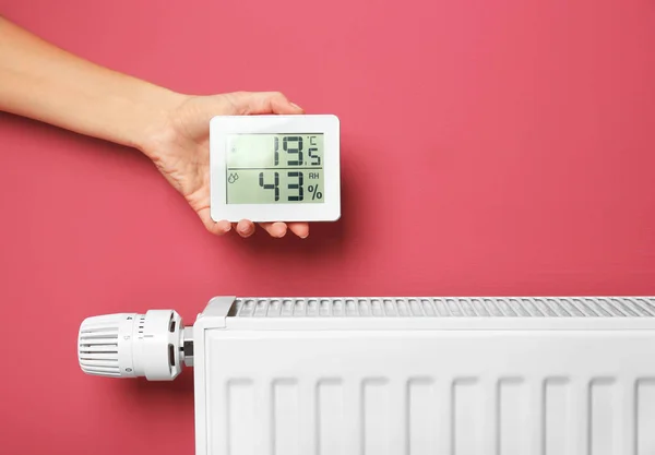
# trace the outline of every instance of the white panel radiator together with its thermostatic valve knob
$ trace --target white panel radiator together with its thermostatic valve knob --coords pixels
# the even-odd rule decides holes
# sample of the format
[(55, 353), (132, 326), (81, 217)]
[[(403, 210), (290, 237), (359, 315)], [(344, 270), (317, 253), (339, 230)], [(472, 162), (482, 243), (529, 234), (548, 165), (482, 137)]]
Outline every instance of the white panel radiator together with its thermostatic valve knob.
[[(193, 364), (196, 455), (655, 454), (655, 298), (217, 297), (192, 328), (153, 312), (162, 331), (148, 314), (86, 320), (81, 366)], [(109, 326), (115, 367), (93, 357)]]

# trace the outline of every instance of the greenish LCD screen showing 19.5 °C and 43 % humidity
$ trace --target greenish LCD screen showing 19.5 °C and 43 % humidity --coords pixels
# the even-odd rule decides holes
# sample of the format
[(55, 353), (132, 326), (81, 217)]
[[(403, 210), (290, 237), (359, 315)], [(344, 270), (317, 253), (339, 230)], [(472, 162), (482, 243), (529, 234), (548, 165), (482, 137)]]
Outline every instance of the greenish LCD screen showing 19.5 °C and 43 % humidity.
[(227, 137), (227, 203), (323, 202), (323, 134)]

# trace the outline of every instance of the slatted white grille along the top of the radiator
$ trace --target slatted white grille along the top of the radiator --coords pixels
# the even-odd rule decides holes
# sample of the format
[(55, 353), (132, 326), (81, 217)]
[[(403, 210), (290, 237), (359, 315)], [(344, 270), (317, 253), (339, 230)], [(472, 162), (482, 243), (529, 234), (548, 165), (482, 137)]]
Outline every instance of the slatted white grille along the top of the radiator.
[(653, 297), (237, 298), (234, 318), (654, 318)]

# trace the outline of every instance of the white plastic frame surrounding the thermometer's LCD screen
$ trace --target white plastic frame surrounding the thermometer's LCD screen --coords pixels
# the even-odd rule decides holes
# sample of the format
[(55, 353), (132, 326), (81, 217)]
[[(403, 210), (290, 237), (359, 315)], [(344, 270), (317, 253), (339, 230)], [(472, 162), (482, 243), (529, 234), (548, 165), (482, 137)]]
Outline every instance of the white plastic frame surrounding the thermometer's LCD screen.
[[(227, 204), (226, 135), (323, 134), (323, 203)], [(340, 121), (333, 115), (217, 116), (210, 122), (211, 216), (215, 221), (334, 221), (341, 217)]]

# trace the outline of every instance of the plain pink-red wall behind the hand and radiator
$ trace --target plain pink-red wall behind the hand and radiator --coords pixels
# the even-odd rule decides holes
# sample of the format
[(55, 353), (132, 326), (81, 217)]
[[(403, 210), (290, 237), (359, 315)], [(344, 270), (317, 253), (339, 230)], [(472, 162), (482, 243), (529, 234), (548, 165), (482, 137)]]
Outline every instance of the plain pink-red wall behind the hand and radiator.
[[(170, 5), (167, 5), (170, 4)], [(192, 454), (192, 371), (86, 376), (87, 315), (213, 295), (655, 295), (650, 0), (0, 0), (174, 89), (342, 119), (343, 218), (206, 234), (131, 149), (0, 116), (0, 452)]]

